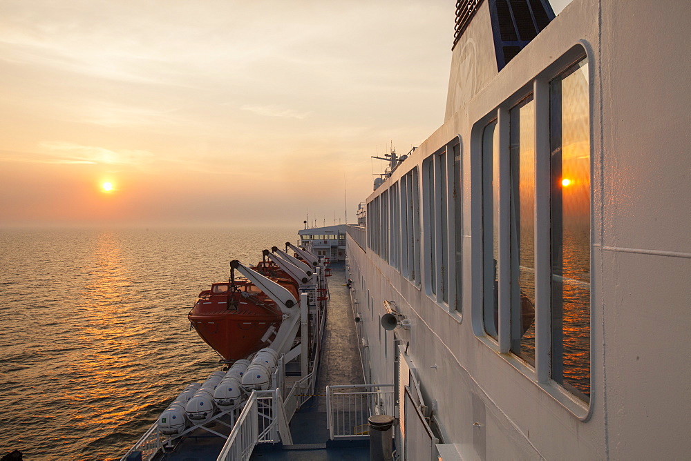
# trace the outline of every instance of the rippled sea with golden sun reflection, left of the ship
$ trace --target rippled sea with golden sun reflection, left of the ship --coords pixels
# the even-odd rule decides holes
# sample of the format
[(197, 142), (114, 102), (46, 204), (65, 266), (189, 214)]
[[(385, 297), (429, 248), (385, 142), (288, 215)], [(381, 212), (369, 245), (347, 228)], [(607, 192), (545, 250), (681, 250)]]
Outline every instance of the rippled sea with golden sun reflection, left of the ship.
[(220, 369), (187, 313), (297, 228), (0, 230), (0, 456), (119, 459)]

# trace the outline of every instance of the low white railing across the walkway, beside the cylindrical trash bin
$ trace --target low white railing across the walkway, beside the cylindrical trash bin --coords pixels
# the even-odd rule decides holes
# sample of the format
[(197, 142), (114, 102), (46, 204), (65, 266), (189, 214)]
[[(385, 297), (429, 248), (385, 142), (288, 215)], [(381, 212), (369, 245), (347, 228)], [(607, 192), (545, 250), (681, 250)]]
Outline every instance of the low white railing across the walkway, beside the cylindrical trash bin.
[(371, 415), (394, 414), (393, 394), (393, 384), (326, 386), (326, 424), (331, 440), (368, 437)]

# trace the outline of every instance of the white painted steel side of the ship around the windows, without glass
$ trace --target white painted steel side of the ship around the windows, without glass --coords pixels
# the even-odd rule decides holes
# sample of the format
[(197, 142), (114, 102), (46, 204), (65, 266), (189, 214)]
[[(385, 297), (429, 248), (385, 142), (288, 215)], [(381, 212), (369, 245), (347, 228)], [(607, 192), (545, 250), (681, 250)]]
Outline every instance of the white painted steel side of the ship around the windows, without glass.
[[(351, 226), (346, 242), (361, 317), (357, 328), (366, 338), (366, 380), (408, 382), (405, 366), (400, 377), (396, 371), (398, 353), (415, 368), (429, 409), (422, 413), (431, 415), (430, 434), (410, 413), (412, 406), (406, 411), (404, 384), (397, 385), (397, 449), (403, 458), (424, 459), (417, 456), (425, 453), (432, 459), (437, 452), (444, 459), (688, 456), (691, 359), (683, 350), (691, 331), (690, 20), (683, 1), (574, 0), (498, 71), (489, 2), (480, 5), (453, 50), (444, 124), (367, 198), (370, 235)], [(483, 300), (491, 288), (483, 289), (482, 265), (483, 239), (491, 232), (483, 229), (483, 130), (498, 119), (499, 136), (508, 139), (510, 111), (531, 95), (536, 174), (547, 158), (549, 175), (549, 84), (583, 59), (591, 184), (590, 275), (584, 282), (591, 287), (589, 399), (553, 380), (549, 284), (534, 288), (537, 339), (533, 360), (524, 360), (509, 349), (512, 333), (502, 327), (508, 317), (500, 318), (498, 337), (487, 333)], [(444, 222), (430, 222), (428, 208), (435, 204), (425, 199), (425, 188), (438, 187), (438, 181), (426, 183), (425, 162), (440, 151), (446, 153), (448, 187), (441, 190), (448, 208)], [(457, 163), (454, 155), (460, 156)], [(401, 193), (411, 186), (411, 173), (417, 203)], [(541, 187), (535, 199), (536, 279), (544, 271), (549, 277), (549, 189)], [(405, 199), (419, 229), (410, 215), (401, 215)], [(502, 207), (500, 200), (498, 214)], [(431, 215), (439, 213), (437, 208)], [(437, 242), (432, 248), (430, 233)], [(441, 250), (440, 238), (446, 243)], [(509, 237), (499, 238), (501, 261), (511, 248), (502, 246)], [(430, 277), (446, 277), (450, 301), (439, 296), (442, 285)], [(381, 328), (384, 301), (394, 302), (410, 320), (409, 329)], [(511, 314), (500, 308), (502, 315)], [(435, 447), (433, 438), (442, 446)]]

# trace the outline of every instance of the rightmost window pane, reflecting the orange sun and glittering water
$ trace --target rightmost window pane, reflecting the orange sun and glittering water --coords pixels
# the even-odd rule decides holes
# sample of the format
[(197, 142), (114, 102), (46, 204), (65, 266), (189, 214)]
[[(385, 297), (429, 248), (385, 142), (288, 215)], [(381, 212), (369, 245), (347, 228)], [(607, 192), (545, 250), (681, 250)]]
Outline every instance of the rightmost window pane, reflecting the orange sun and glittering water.
[(590, 137), (588, 64), (551, 81), (552, 379), (590, 395)]

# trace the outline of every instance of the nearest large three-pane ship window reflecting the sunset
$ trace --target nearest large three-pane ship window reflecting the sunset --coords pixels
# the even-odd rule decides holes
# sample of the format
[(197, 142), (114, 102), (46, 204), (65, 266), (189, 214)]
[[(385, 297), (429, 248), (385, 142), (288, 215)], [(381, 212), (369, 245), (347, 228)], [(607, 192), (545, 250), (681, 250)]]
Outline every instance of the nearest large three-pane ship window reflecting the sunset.
[(534, 369), (539, 382), (552, 380), (588, 402), (587, 60), (551, 81), (538, 77), (533, 90), (500, 106), (477, 130), (480, 161), (473, 177), (482, 184), (482, 271), (473, 277), (482, 284), (484, 333), (499, 351), (524, 360), (524, 373)]

